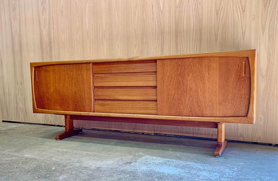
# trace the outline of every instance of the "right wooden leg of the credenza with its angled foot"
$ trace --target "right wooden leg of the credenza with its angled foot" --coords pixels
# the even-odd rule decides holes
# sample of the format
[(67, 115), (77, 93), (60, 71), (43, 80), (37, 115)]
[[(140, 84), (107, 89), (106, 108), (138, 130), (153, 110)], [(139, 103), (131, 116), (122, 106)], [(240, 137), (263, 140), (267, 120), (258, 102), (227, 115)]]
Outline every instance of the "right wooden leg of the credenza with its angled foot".
[(214, 156), (219, 157), (227, 145), (225, 141), (225, 123), (218, 123), (217, 125), (217, 146), (214, 151)]

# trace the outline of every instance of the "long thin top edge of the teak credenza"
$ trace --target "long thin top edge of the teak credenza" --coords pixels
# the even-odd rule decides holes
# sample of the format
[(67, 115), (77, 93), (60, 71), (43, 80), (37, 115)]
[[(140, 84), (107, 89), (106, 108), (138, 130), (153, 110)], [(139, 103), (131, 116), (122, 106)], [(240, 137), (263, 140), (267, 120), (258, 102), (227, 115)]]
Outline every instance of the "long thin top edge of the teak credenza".
[(55, 64), (76, 64), (76, 63), (98, 63), (98, 62), (123, 62), (123, 61), (140, 61), (140, 60), (162, 60), (175, 58), (197, 58), (197, 57), (257, 57), (257, 50), (238, 50), (238, 51), (220, 51), (209, 53), (186, 53), (174, 55), (158, 55), (158, 56), (143, 56), (129, 58), (107, 58), (93, 60), (66, 60), (66, 61), (50, 61), (50, 62), (30, 62), (30, 67), (38, 67), (43, 65)]

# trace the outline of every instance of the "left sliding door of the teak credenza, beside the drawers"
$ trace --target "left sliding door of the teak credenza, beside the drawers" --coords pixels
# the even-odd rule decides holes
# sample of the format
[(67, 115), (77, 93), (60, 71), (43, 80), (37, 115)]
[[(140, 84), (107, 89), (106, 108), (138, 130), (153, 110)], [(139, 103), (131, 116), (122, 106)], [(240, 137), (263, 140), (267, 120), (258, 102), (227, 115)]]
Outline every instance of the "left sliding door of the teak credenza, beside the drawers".
[(34, 68), (36, 108), (93, 112), (91, 64)]

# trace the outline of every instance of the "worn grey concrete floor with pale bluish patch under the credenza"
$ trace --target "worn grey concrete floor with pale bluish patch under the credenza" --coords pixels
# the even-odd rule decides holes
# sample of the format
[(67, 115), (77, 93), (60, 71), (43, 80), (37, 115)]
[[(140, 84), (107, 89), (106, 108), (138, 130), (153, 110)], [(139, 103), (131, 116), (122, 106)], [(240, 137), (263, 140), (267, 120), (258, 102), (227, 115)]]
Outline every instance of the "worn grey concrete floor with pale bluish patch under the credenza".
[(278, 180), (278, 147), (0, 122), (0, 180)]

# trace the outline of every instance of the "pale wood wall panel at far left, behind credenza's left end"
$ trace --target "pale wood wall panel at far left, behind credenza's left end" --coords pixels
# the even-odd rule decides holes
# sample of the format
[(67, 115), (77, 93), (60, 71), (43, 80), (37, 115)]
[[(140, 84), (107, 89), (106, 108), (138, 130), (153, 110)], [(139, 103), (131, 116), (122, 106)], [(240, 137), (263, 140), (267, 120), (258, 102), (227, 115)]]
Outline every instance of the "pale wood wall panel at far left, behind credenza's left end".
[(33, 114), (31, 61), (51, 61), (51, 1), (0, 1), (1, 120), (63, 124), (62, 116)]

